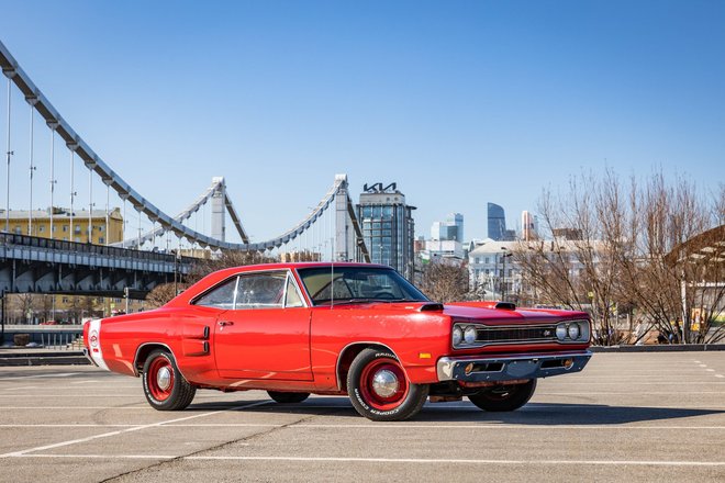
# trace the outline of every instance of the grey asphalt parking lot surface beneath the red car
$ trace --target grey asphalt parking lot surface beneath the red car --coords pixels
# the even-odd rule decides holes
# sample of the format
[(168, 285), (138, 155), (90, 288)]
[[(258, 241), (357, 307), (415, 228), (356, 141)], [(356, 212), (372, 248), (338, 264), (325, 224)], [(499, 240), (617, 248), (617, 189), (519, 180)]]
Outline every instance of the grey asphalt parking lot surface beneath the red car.
[(725, 481), (725, 352), (598, 353), (514, 413), (372, 423), (345, 397), (199, 391), (183, 412), (91, 367), (0, 368), (0, 482)]

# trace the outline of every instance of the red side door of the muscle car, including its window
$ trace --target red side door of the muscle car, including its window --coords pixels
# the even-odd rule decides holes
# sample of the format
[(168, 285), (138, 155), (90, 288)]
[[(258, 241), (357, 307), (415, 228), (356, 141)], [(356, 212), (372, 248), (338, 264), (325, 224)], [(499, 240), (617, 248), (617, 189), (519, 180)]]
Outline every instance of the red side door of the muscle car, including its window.
[(220, 377), (312, 381), (310, 317), (289, 270), (239, 274), (214, 328)]

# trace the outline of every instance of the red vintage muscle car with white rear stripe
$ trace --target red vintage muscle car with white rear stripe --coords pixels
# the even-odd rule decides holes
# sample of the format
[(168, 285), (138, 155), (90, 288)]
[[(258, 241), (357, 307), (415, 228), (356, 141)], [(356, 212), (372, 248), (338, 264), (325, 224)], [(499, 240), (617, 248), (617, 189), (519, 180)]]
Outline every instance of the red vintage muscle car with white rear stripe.
[(156, 409), (200, 389), (264, 390), (278, 403), (348, 395), (373, 420), (428, 398), (516, 409), (537, 378), (584, 368), (590, 334), (583, 312), (444, 305), (389, 267), (328, 262), (220, 270), (160, 308), (83, 327), (89, 359), (141, 377)]

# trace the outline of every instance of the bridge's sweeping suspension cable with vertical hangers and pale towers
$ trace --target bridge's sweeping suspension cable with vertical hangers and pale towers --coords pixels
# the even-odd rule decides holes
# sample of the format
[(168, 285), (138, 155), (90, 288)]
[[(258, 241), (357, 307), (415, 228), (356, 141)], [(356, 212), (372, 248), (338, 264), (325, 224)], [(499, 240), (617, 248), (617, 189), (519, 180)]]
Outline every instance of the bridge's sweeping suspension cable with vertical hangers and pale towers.
[[(223, 178), (215, 178), (212, 186), (202, 194), (197, 201), (194, 201), (187, 210), (179, 213), (177, 216), (169, 216), (164, 213), (160, 209), (154, 205), (150, 201), (141, 195), (136, 190), (134, 190), (119, 173), (116, 173), (91, 147), (72, 130), (72, 127), (66, 122), (58, 111), (51, 104), (47, 98), (41, 92), (41, 90), (33, 83), (31, 78), (25, 74), (25, 71), (20, 67), (14, 57), (10, 54), (8, 48), (0, 42), (0, 67), (2, 68), (3, 74), (8, 77), (8, 180), (10, 179), (10, 156), (12, 151), (10, 150), (10, 90), (11, 83), (14, 83), (21, 93), (25, 97), (25, 100), (31, 104), (31, 113), (33, 110), (40, 114), (48, 125), (52, 126), (52, 131), (57, 133), (57, 135), (66, 143), (66, 147), (70, 150), (70, 237), (74, 235), (74, 201), (77, 193), (74, 191), (74, 164), (75, 157), (77, 156), (85, 166), (89, 169), (89, 176), (91, 180), (89, 181), (89, 240), (90, 238), (90, 212), (92, 211), (92, 173), (99, 176), (101, 181), (107, 186), (107, 190), (113, 189), (119, 196), (123, 200), (123, 220), (124, 220), (124, 229), (122, 239), (124, 242), (121, 245), (125, 246), (136, 246), (141, 247), (144, 243), (148, 240), (154, 240), (157, 236), (163, 235), (164, 233), (171, 232), (179, 239), (186, 238), (191, 243), (198, 244), (201, 247), (210, 247), (214, 249), (238, 249), (238, 250), (254, 250), (254, 251), (271, 251), (277, 250), (282, 246), (289, 246), (292, 240), (300, 240), (302, 234), (305, 234), (309, 229), (313, 229), (313, 225), (317, 222), (321, 216), (323, 216), (326, 211), (334, 206), (330, 213), (330, 217), (333, 217), (334, 213), (334, 234), (330, 239), (325, 239), (320, 245), (325, 245), (330, 243), (332, 258), (334, 259), (365, 259), (370, 260), (368, 250), (365, 246), (362, 234), (360, 232), (359, 224), (357, 222), (357, 216), (355, 209), (353, 206), (352, 200), (348, 195), (348, 184), (347, 176), (337, 175), (335, 177), (335, 182), (332, 188), (327, 191), (325, 196), (317, 203), (317, 205), (312, 210), (312, 212), (304, 217), (299, 224), (293, 228), (288, 229), (281, 235), (265, 242), (252, 243), (247, 233), (245, 232), (237, 211), (234, 207), (231, 199), (226, 194), (226, 189), (224, 186)], [(32, 115), (31, 115), (31, 130), (32, 130)], [(31, 169), (33, 168), (33, 158), (32, 158), (32, 137), (31, 137)], [(52, 155), (53, 156), (53, 155)], [(52, 175), (53, 178), (53, 175)], [(31, 171), (31, 182), (32, 182), (32, 171)], [(54, 180), (52, 179), (52, 183)], [(32, 190), (32, 188), (31, 188)], [(107, 191), (107, 198), (108, 198)], [(9, 194), (8, 194), (9, 196)], [(215, 198), (216, 196), (216, 198)], [(183, 224), (185, 221), (189, 220), (193, 213), (197, 213), (200, 206), (208, 203), (212, 200), (212, 211), (225, 210), (228, 213), (232, 222), (235, 225), (235, 228), (242, 239), (242, 243), (230, 243), (224, 240), (223, 236), (223, 225), (221, 233), (216, 233), (216, 236), (208, 236), (203, 233), (192, 229), (191, 227)], [(140, 227), (138, 234), (135, 237), (127, 237), (125, 231), (125, 223), (127, 222), (125, 216), (125, 205), (126, 201), (131, 203), (134, 210), (137, 211), (140, 216)], [(216, 203), (216, 204), (214, 204)], [(108, 203), (107, 203), (108, 204)], [(10, 200), (8, 198), (7, 203), (8, 212), (10, 211)], [(31, 213), (32, 213), (32, 199), (31, 199)], [(143, 234), (141, 233), (141, 214), (144, 214), (148, 217), (152, 223), (152, 231)], [(5, 229), (8, 226), (8, 214), (5, 214)], [(32, 214), (30, 215), (32, 216)], [(223, 216), (223, 213), (222, 213)], [(32, 224), (32, 222), (31, 222)], [(331, 222), (331, 226), (332, 226)], [(219, 228), (219, 227), (216, 227)], [(348, 229), (352, 228), (352, 229)], [(108, 229), (108, 207), (107, 207), (107, 229)], [(212, 232), (215, 227), (212, 226)], [(314, 236), (313, 236), (314, 238)]]

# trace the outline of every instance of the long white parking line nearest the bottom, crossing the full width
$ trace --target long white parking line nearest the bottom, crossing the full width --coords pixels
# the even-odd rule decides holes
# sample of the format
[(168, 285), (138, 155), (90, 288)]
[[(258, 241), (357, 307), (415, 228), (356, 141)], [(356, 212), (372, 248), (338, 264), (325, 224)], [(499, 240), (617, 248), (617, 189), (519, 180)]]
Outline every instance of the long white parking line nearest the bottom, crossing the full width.
[(602, 467), (725, 467), (725, 461), (644, 461), (644, 460), (476, 460), (476, 459), (421, 459), (421, 458), (356, 458), (356, 457), (175, 457), (168, 454), (12, 454), (19, 458), (58, 458), (58, 459), (140, 459), (187, 461), (288, 461), (313, 463), (404, 463), (404, 464), (529, 464), (529, 465), (602, 465)]

